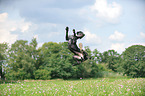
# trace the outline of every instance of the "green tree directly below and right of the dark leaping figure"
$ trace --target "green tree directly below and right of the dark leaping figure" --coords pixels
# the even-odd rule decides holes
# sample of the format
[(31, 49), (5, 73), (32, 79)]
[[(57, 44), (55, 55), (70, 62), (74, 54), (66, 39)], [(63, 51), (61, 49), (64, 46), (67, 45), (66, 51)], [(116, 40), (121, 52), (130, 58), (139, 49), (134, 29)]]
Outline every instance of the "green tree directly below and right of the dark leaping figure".
[(97, 73), (99, 71), (104, 71), (104, 68), (101, 69), (100, 65), (98, 62), (100, 62), (99, 58), (99, 51), (95, 49), (93, 51), (90, 50), (90, 48), (87, 46), (85, 47), (85, 51), (88, 53), (89, 58), (88, 60), (84, 61), (80, 65), (77, 66), (76, 70), (76, 77), (77, 78), (90, 78), (90, 77), (98, 77)]

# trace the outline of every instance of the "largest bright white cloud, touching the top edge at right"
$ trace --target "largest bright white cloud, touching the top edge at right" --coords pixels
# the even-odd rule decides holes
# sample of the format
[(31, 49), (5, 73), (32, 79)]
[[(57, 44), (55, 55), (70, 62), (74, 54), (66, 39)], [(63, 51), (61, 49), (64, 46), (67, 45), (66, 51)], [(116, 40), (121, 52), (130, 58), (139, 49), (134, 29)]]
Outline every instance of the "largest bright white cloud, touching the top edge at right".
[(109, 4), (107, 0), (96, 0), (91, 9), (97, 12), (97, 17), (102, 17), (108, 21), (114, 22), (121, 15), (122, 7), (116, 2)]

